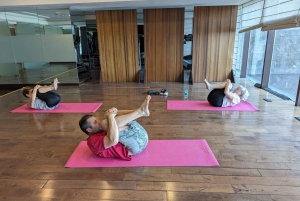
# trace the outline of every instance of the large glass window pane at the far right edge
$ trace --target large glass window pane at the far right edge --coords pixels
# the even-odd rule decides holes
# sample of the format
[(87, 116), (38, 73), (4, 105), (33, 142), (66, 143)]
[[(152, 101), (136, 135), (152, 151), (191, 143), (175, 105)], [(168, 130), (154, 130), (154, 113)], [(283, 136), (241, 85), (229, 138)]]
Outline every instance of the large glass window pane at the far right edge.
[(300, 28), (275, 32), (269, 87), (296, 100), (300, 75)]

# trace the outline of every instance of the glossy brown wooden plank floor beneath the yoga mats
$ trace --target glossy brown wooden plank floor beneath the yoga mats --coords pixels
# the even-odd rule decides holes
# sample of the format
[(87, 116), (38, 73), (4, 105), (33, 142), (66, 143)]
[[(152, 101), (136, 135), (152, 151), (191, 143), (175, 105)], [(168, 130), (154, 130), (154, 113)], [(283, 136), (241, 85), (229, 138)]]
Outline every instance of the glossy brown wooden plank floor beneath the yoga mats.
[[(63, 102), (103, 102), (95, 113), (134, 109), (150, 89), (150, 117), (139, 119), (151, 140), (206, 139), (220, 167), (64, 168), (86, 135), (83, 114), (12, 114), (26, 103), (20, 91), (0, 98), (0, 200), (300, 200), (300, 108), (254, 83), (250, 91), (258, 112), (170, 111), (166, 101), (205, 99), (204, 84), (110, 83), (90, 81), (60, 86)], [(263, 98), (273, 102), (265, 102)], [(180, 151), (180, 150), (178, 150)], [(188, 157), (188, 156), (187, 156)], [(134, 159), (133, 159), (134, 160)]]

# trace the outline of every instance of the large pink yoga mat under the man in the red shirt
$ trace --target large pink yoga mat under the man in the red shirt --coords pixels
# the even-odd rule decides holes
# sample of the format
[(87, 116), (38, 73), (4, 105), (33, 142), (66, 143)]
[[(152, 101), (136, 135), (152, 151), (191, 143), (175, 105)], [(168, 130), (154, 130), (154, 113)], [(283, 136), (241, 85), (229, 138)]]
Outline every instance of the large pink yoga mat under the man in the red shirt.
[(219, 166), (206, 140), (150, 140), (131, 161), (100, 158), (81, 141), (65, 167)]

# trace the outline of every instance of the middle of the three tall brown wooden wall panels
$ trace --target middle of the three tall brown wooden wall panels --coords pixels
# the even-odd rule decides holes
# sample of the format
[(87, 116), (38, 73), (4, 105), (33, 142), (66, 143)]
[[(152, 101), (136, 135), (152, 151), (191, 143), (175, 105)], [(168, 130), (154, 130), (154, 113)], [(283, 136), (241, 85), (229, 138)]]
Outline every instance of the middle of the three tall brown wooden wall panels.
[(184, 9), (146, 9), (144, 44), (146, 81), (181, 81)]

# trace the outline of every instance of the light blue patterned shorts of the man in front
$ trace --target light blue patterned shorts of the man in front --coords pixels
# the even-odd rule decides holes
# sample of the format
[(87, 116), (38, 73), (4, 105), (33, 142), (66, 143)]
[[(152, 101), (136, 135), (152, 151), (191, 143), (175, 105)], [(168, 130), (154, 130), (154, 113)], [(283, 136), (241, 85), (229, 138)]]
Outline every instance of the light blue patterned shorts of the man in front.
[(148, 134), (146, 130), (136, 121), (127, 124), (127, 129), (119, 133), (121, 142), (132, 154), (143, 151), (148, 144)]

